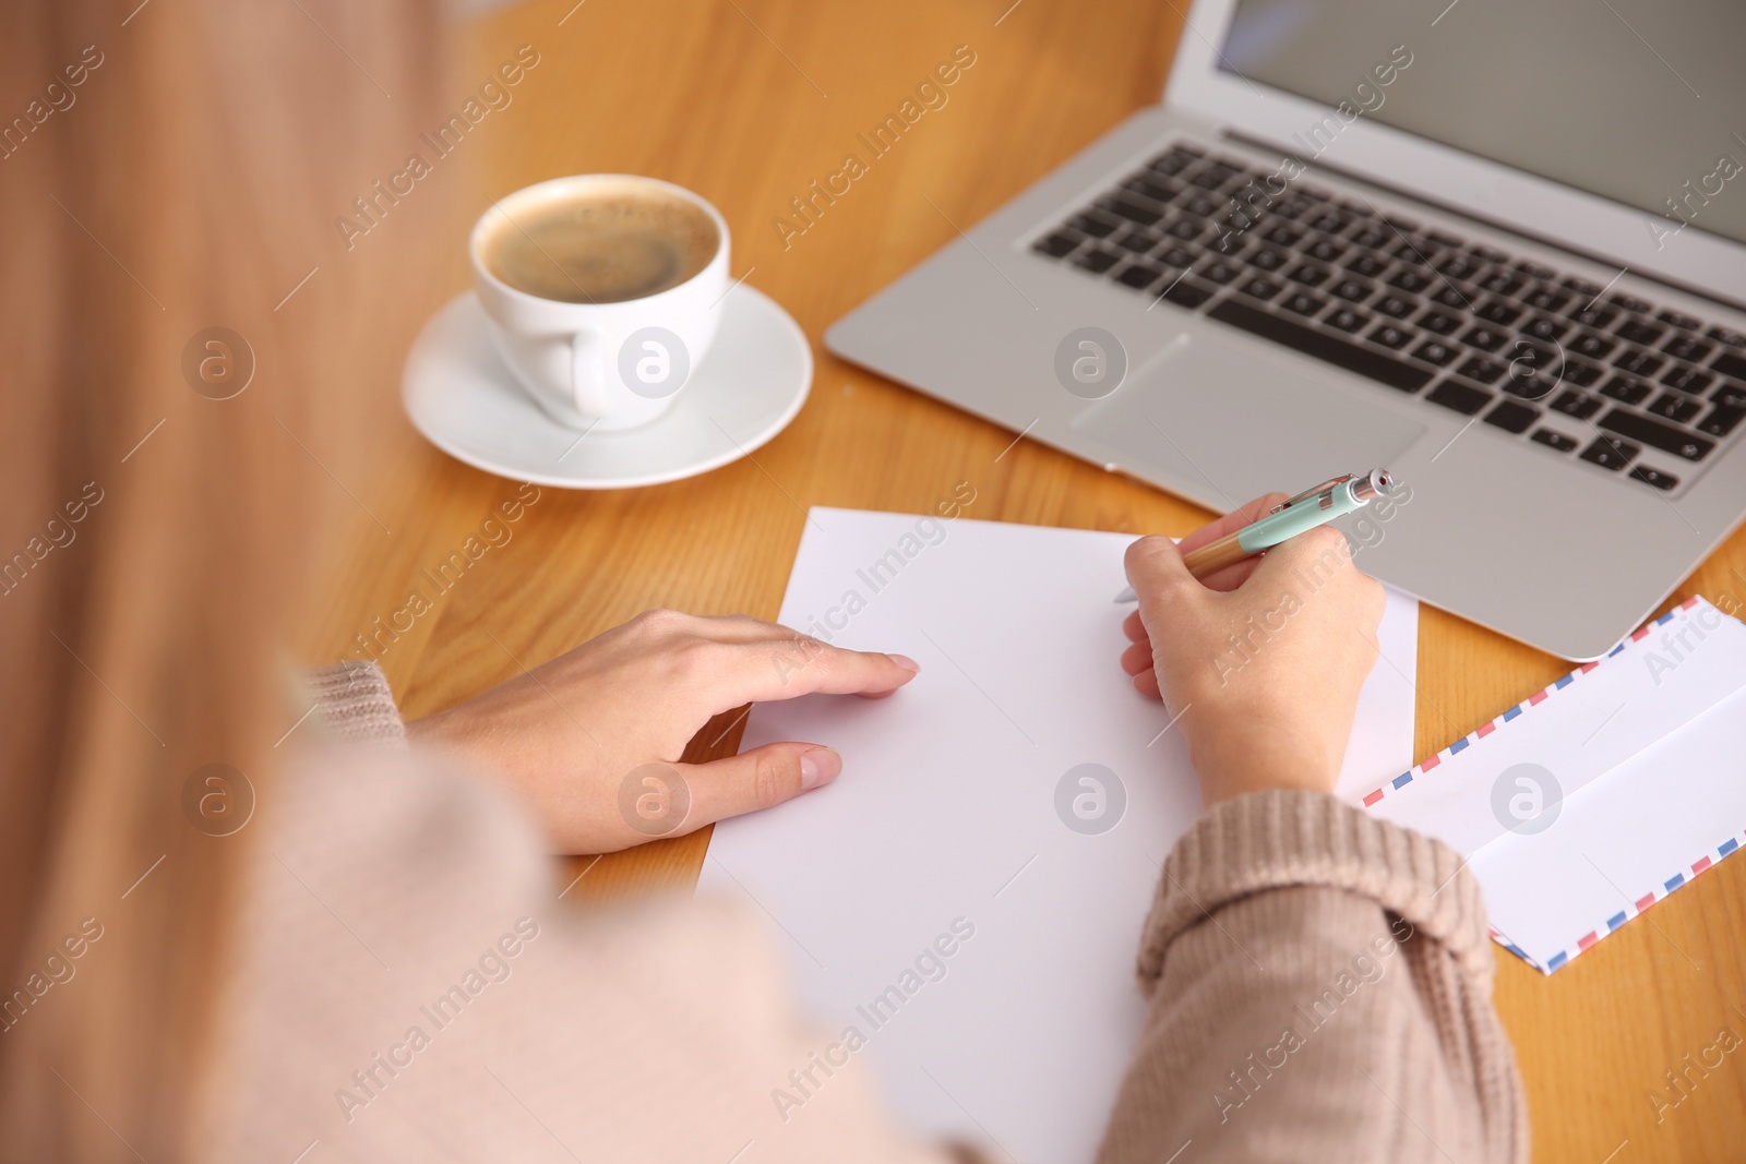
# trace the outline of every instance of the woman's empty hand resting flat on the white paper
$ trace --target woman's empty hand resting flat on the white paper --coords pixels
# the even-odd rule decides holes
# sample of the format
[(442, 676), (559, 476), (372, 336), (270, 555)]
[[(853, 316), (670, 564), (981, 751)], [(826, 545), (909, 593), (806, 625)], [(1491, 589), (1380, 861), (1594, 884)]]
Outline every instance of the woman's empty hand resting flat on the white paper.
[(824, 743), (765, 743), (707, 764), (679, 754), (711, 717), (796, 695), (890, 695), (903, 654), (845, 651), (749, 616), (644, 611), (484, 695), (407, 724), (499, 775), (566, 853), (681, 836), (829, 784)]

